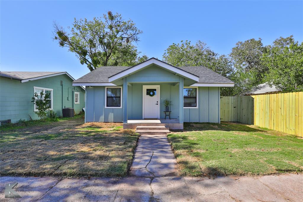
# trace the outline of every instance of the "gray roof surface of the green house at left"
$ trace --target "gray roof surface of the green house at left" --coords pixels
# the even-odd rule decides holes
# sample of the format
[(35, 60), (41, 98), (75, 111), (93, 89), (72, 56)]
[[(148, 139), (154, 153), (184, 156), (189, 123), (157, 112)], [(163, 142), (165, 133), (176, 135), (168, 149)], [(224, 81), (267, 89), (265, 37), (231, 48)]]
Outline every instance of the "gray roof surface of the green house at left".
[(0, 76), (23, 80), (23, 79), (32, 79), (39, 76), (48, 76), (58, 73), (63, 73), (63, 72), (3, 72), (1, 71)]

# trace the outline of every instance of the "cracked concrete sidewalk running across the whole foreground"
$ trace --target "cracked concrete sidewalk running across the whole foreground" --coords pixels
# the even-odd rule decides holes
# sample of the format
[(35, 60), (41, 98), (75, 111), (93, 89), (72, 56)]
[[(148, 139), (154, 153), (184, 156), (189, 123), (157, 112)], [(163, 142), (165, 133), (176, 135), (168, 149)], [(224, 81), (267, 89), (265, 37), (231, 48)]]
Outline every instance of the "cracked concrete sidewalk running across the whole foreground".
[[(303, 201), (302, 174), (262, 177), (125, 177), (72, 178), (0, 177), (20, 201)], [(33, 189), (33, 190), (28, 190)]]

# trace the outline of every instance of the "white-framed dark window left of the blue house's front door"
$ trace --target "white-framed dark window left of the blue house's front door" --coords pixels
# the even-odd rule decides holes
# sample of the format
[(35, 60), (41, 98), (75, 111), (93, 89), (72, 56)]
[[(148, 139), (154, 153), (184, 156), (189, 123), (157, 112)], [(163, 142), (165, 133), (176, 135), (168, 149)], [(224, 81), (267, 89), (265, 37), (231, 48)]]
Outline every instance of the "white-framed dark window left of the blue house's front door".
[(105, 108), (122, 108), (122, 87), (105, 87)]

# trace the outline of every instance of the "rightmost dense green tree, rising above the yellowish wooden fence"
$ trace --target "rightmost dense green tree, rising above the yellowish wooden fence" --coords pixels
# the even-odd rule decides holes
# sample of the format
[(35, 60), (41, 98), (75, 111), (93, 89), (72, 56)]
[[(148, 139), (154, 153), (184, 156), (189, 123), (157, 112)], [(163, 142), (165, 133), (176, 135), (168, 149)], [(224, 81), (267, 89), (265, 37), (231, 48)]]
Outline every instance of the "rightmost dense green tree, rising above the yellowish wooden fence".
[(284, 91), (303, 90), (303, 43), (293, 36), (276, 39), (261, 58), (268, 68), (266, 79)]

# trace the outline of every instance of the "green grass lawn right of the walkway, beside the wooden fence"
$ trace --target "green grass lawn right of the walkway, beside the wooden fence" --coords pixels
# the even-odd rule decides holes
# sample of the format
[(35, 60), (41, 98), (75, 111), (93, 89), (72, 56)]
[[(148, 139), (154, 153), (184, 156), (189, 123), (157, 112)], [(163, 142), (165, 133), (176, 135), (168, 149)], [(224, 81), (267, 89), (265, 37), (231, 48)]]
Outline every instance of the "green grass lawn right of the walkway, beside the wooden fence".
[(303, 139), (223, 122), (184, 123), (168, 135), (181, 175), (267, 175), (303, 171)]

